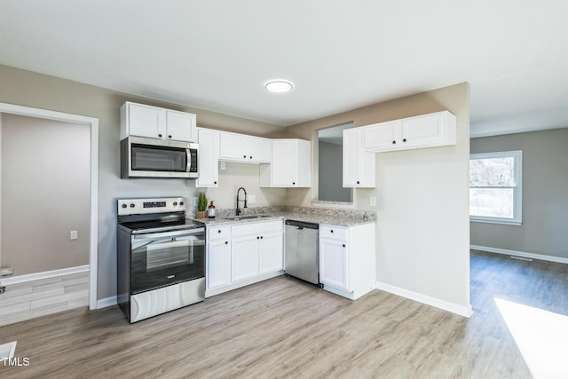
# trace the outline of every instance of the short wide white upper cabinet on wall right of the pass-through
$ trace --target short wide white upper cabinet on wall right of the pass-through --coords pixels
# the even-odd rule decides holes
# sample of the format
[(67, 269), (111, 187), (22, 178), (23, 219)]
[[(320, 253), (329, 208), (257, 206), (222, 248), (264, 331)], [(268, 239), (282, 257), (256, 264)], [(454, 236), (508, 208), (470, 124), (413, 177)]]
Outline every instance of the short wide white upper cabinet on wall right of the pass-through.
[(375, 153), (455, 145), (456, 118), (448, 111), (363, 126), (364, 147)]

